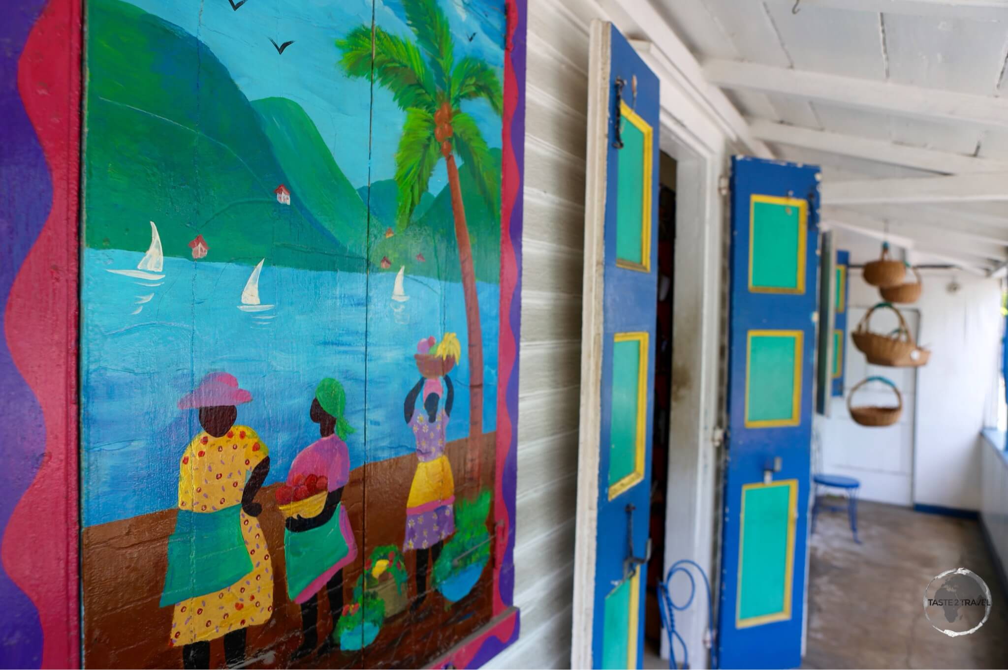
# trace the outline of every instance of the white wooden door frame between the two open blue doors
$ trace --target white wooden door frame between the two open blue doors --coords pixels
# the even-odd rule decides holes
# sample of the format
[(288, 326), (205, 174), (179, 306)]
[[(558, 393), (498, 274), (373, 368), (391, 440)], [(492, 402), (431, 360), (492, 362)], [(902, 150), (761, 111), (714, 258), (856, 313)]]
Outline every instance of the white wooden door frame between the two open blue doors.
[[(725, 199), (721, 177), (727, 175), (726, 138), (698, 132), (704, 125), (695, 101), (683, 97), (674, 70), (649, 42), (631, 40), (645, 63), (661, 80), (661, 150), (676, 161), (675, 270), (672, 283), (672, 365), (668, 473), (665, 498), (665, 552), (662, 578), (669, 566), (690, 558), (705, 567), (716, 588), (720, 530), (720, 430), (723, 408), (719, 389), (724, 339), (722, 284), (725, 255)], [(676, 630), (692, 652), (690, 666), (707, 668), (709, 613), (697, 578), (694, 605), (677, 613)], [(689, 583), (672, 584), (677, 604), (688, 597)], [(717, 604), (717, 592), (712, 593)], [(661, 655), (668, 657), (663, 638)], [(681, 650), (676, 650), (679, 662)]]

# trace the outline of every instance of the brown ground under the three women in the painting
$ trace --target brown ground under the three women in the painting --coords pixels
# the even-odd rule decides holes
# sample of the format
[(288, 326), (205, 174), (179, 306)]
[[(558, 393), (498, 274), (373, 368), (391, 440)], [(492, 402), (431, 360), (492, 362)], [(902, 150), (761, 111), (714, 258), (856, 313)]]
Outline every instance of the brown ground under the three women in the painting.
[[(495, 438), (496, 433), (484, 434), (480, 449), (479, 488), (490, 491), (494, 485)], [(457, 499), (473, 497), (477, 492), (475, 483), (467, 482), (465, 477), (466, 443), (465, 439), (456, 440), (446, 449), (455, 474)], [(354, 563), (344, 568), (345, 602), (351, 602), (353, 585), (371, 550), (382, 544), (402, 543), (406, 498), (415, 467), (416, 456), (409, 454), (367, 463), (351, 473), (343, 500), (359, 550)], [(289, 667), (288, 658), (301, 642), (300, 608), (287, 599), (282, 576), (283, 523), (273, 497), (277, 486), (266, 487), (256, 497), (263, 507), (259, 520), (278, 576), (274, 582), (272, 618), (263, 626), (248, 629), (248, 667)], [(88, 612), (84, 622), (87, 667), (181, 667), (181, 650), (168, 646), (172, 609), (158, 607), (167, 568), (167, 540), (174, 524), (175, 510), (162, 510), (84, 529), (82, 579), (84, 607)], [(490, 530), (493, 537), (493, 529)], [(415, 552), (405, 552), (404, 557), (409, 572), (407, 594), (412, 599), (416, 596)], [(404, 613), (386, 619), (378, 638), (363, 653), (310, 656), (299, 666), (414, 668), (429, 663), (490, 621), (493, 561), (491, 556), (480, 581), (462, 600), (452, 604), (432, 591), (415, 613), (407, 608)], [(320, 641), (333, 630), (333, 625), (328, 601), (324, 601), (319, 614)], [(211, 667), (224, 667), (221, 640), (211, 643)]]

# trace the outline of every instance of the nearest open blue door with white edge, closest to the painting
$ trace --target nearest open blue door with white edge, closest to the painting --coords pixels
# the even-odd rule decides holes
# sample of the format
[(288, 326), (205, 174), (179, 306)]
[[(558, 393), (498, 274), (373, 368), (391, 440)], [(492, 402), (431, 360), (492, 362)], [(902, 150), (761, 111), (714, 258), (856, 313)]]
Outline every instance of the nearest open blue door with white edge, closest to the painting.
[(658, 80), (592, 26), (574, 667), (641, 665), (657, 308)]

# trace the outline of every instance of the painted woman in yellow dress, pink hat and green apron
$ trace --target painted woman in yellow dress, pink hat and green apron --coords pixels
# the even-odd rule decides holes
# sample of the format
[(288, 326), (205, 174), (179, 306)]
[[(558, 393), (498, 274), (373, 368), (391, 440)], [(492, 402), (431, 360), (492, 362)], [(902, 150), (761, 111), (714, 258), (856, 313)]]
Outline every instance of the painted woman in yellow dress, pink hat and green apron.
[(224, 638), (229, 667), (245, 660), (245, 632), (273, 613), (269, 547), (253, 499), (269, 473), (254, 430), (235, 425), (252, 394), (227, 373), (211, 373), (178, 401), (199, 409), (203, 430), (178, 463), (178, 516), (168, 539), (161, 607), (174, 606), (168, 644), (185, 668), (210, 666), (210, 641)]

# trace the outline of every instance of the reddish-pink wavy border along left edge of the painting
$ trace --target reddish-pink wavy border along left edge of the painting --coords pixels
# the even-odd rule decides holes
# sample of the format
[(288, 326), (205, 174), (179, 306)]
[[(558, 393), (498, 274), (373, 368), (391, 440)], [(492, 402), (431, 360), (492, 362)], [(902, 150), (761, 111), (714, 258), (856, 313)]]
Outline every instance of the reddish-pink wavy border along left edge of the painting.
[(81, 3), (50, 0), (18, 61), (18, 91), (52, 179), (52, 207), (11, 287), (5, 338), (42, 409), (45, 453), (3, 538), (11, 579), (42, 628), (43, 668), (80, 665), (78, 606), (78, 191)]

